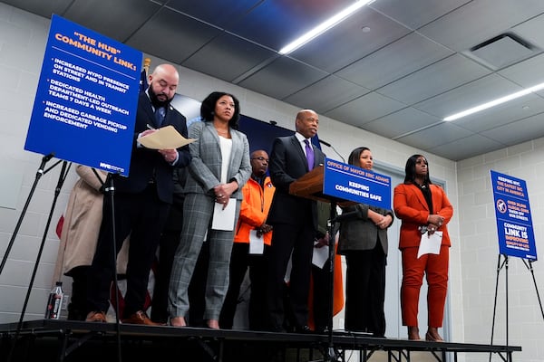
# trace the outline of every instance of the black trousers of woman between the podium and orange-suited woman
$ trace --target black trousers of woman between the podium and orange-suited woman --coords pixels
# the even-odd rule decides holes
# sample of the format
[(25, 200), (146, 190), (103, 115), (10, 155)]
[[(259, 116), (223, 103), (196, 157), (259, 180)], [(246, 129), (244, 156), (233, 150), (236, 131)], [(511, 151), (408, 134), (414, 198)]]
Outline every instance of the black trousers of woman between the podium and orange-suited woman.
[(345, 261), (345, 329), (384, 336), (386, 255), (382, 245), (346, 252)]

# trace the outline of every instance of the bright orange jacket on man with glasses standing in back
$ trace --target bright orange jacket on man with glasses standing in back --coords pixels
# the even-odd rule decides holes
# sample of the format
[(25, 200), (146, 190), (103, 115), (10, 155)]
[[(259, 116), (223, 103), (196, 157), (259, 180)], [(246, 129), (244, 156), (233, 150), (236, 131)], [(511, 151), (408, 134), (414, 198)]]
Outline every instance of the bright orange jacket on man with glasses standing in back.
[[(272, 185), (270, 177), (265, 178), (264, 189), (258, 185), (257, 181), (249, 177), (246, 185), (242, 187), (242, 204), (240, 205), (240, 217), (236, 234), (235, 243), (249, 243), (249, 232), (262, 225), (268, 216), (272, 197), (276, 188)], [(272, 232), (263, 235), (265, 245), (272, 243)]]

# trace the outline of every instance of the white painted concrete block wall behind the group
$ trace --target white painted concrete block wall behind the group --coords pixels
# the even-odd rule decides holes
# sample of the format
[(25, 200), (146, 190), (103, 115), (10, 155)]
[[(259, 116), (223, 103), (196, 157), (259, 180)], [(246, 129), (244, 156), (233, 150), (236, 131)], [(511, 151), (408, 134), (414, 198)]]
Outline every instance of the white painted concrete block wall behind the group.
[[(48, 19), (0, 3), (0, 79), (4, 85), (0, 89), (0, 144), (3, 151), (0, 153), (0, 186), (3, 186), (0, 189), (0, 256), (4, 255), (15, 230), (42, 157), (24, 151), (24, 139), (34, 103), (48, 28)], [(151, 60), (151, 68), (163, 62), (152, 55)], [(237, 95), (243, 114), (265, 121), (275, 120), (278, 126), (287, 129), (294, 129), (296, 111), (304, 108), (304, 105), (294, 106), (274, 100), (196, 71), (182, 67), (179, 70), (180, 94), (201, 100), (212, 90), (228, 90)], [(361, 112), (363, 114), (364, 110)], [(353, 148), (367, 146), (373, 150), (377, 164), (399, 170), (403, 170), (407, 157), (422, 153), (421, 150), (324, 116), (320, 116), (319, 135), (333, 144), (345, 157)], [(332, 150), (325, 149), (325, 152), (329, 157), (335, 158)], [(489, 343), (498, 258), (489, 169), (517, 176), (528, 182), (539, 249), (544, 208), (544, 187), (541, 186), (544, 176), (539, 171), (544, 162), (544, 139), (458, 163), (434, 155), (426, 156), (432, 165), (432, 176), (445, 183), (455, 210), (450, 224), (453, 241), (449, 290), (452, 341)], [(19, 318), (47, 223), (59, 169), (57, 166), (41, 177), (5, 270), (0, 274), (0, 323), (13, 322)], [(53, 212), (53, 224), (46, 235), (44, 254), (34, 281), (26, 319), (39, 319), (43, 316), (45, 300), (53, 282), (53, 267), (58, 249), (54, 225), (63, 213), (75, 179), (72, 172)], [(396, 241), (392, 240), (391, 244), (390, 252), (396, 252)], [(534, 263), (534, 269), (540, 288), (544, 272), (539, 271), (541, 268), (538, 262)], [(540, 315), (530, 273), (520, 260), (510, 260), (509, 276), (510, 344), (524, 348), (524, 352), (516, 355), (515, 360), (544, 360), (544, 338), (541, 337), (544, 336), (544, 320)], [(503, 273), (500, 277), (503, 278)], [(500, 281), (498, 302), (495, 342), (504, 344), (504, 281)], [(489, 356), (461, 356), (461, 361), (465, 358), (467, 361), (488, 360)]]

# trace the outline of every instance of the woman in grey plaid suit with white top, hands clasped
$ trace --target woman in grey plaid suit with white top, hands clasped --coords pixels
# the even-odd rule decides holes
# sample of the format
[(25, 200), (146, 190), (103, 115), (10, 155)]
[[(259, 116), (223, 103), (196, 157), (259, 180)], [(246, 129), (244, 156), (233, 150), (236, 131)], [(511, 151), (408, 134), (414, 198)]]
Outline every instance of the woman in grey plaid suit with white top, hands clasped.
[[(231, 94), (212, 92), (202, 101), (202, 122), (189, 127), (193, 157), (185, 185), (183, 229), (170, 277), (170, 325), (183, 327), (189, 310), (188, 287), (202, 243), (209, 243), (209, 271), (204, 319), (209, 328), (219, 329), (219, 313), (228, 290), (228, 267), (238, 221), (242, 186), (251, 175), (249, 143), (239, 132), (239, 102)], [(233, 228), (211, 228), (216, 204), (236, 202)]]

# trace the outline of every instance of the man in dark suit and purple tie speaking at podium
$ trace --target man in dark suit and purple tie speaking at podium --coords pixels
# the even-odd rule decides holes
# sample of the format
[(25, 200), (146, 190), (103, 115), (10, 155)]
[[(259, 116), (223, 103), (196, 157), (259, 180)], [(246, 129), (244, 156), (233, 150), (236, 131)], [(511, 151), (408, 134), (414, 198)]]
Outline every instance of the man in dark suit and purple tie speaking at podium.
[[(312, 253), (317, 229), (316, 201), (289, 194), (289, 186), (300, 176), (323, 164), (325, 155), (312, 145), (319, 118), (314, 110), (296, 114), (296, 133), (276, 138), (270, 154), (269, 173), (276, 194), (268, 214), (274, 227), (268, 266), (268, 312), (270, 330), (282, 332), (290, 325), (296, 332), (309, 332), (308, 288), (312, 271)], [(287, 286), (287, 263), (292, 269)], [(286, 310), (286, 308), (288, 310)], [(292, 320), (286, 320), (291, 314)]]

